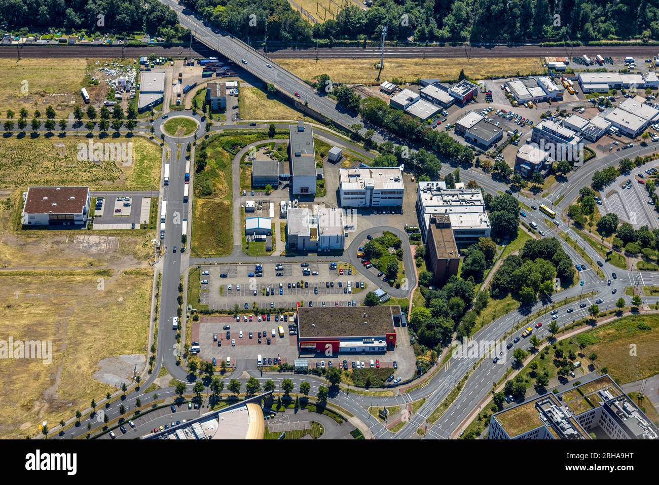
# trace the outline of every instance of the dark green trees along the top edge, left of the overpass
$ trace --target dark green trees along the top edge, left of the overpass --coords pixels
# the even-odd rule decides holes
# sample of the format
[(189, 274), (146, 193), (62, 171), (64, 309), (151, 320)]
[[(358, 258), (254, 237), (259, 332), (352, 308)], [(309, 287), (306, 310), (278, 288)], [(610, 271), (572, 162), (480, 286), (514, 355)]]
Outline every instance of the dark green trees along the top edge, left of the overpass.
[(176, 13), (158, 0), (0, 0), (0, 23), (43, 30), (53, 26), (101, 32), (147, 32), (175, 40), (185, 36)]

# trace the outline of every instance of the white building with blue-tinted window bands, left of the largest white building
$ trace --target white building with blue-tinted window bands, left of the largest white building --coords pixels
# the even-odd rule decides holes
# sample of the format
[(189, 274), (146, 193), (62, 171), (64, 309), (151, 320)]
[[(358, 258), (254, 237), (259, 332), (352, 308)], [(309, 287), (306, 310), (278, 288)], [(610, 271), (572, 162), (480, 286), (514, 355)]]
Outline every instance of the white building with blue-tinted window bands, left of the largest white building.
[(405, 196), (399, 167), (339, 169), (341, 207), (402, 206)]

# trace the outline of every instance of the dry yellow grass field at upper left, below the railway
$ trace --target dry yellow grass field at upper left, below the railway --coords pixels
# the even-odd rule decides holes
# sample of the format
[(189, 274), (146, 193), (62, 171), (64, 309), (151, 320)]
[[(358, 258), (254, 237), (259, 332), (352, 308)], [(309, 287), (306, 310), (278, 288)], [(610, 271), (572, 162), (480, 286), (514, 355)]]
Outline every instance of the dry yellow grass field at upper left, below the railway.
[(25, 108), (30, 116), (35, 109), (45, 113), (52, 105), (58, 115), (69, 113), (80, 100), (86, 59), (0, 59), (0, 106)]

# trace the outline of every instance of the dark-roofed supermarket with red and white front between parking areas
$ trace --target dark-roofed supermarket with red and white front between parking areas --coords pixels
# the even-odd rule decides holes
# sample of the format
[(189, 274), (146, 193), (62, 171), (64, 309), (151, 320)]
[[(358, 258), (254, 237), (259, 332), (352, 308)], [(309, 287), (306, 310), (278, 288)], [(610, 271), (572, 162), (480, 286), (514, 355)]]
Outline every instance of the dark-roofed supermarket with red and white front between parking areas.
[[(335, 306), (297, 309), (301, 354), (384, 354), (396, 346), (400, 306)], [(328, 354), (331, 351), (331, 354)]]

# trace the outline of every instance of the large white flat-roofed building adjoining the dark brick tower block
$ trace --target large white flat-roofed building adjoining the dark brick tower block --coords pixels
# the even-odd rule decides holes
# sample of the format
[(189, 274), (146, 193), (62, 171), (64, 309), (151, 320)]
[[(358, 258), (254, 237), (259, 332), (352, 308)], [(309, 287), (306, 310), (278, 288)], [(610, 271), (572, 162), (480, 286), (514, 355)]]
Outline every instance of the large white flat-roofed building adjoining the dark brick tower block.
[(420, 182), (416, 212), (424, 241), (433, 215), (449, 217), (456, 244), (476, 243), (480, 237), (490, 237), (492, 228), (480, 188), (446, 188), (444, 181)]

